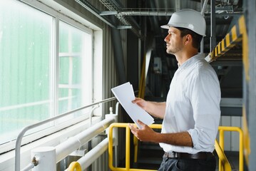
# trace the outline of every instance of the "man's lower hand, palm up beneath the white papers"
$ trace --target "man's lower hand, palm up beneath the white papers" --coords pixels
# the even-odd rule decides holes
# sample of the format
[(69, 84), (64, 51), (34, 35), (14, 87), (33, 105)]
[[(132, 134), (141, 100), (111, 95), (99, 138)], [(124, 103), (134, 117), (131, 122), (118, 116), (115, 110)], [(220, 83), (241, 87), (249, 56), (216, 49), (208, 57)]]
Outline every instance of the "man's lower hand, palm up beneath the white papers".
[(148, 125), (145, 125), (145, 123), (141, 122), (140, 120), (138, 120), (138, 124), (141, 125), (141, 129), (135, 128), (133, 125), (129, 124), (131, 132), (135, 135), (136, 138), (138, 138), (138, 140), (146, 142), (157, 142), (156, 136), (158, 133), (156, 133)]

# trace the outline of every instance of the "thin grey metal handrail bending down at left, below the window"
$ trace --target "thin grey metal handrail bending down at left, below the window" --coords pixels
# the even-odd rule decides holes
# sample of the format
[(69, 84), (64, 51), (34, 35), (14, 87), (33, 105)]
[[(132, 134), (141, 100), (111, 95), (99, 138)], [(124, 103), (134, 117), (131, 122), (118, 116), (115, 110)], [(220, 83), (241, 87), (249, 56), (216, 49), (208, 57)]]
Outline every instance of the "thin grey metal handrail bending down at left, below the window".
[(78, 110), (82, 110), (84, 108), (91, 107), (91, 106), (96, 105), (98, 103), (106, 103), (108, 101), (115, 100), (115, 99), (116, 99), (116, 97), (107, 98), (107, 99), (101, 100), (101, 101), (99, 101), (97, 103), (93, 103), (91, 105), (86, 105), (86, 106), (83, 106), (81, 108), (77, 108), (75, 110), (71, 110), (68, 113), (63, 113), (61, 115), (57, 115), (56, 117), (49, 118), (48, 120), (43, 120), (43, 121), (41, 121), (39, 123), (35, 123), (33, 125), (29, 125), (29, 126), (23, 128), (23, 130), (21, 130), (21, 132), (19, 133), (19, 135), (18, 135), (18, 137), (16, 139), (16, 145), (15, 145), (15, 171), (19, 171), (21, 169), (21, 140), (22, 140), (22, 138), (23, 138), (23, 136), (24, 136), (24, 134), (26, 133), (27, 130), (31, 130), (32, 128), (36, 128), (36, 127), (38, 127), (40, 125), (43, 125), (45, 123), (49, 123), (49, 122), (51, 122), (53, 120), (57, 120), (57, 119), (62, 118), (64, 116), (66, 116), (66, 115), (74, 113), (74, 112), (76, 112)]

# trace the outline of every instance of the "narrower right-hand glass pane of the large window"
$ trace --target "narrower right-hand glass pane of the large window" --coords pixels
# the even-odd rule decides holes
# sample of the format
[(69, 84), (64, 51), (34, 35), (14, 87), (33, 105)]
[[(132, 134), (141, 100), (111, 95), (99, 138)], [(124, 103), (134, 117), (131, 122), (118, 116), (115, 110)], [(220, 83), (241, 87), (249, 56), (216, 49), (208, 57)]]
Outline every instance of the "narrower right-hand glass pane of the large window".
[(59, 113), (65, 113), (91, 102), (92, 40), (62, 21), (59, 28)]

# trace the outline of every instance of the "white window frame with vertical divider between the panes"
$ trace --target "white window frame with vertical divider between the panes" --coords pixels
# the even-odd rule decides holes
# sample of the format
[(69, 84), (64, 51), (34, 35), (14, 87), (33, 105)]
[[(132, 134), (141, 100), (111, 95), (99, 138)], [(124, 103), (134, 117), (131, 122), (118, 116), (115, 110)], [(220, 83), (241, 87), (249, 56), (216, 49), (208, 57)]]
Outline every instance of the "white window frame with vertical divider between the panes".
[[(56, 3), (55, 1), (48, 1), (48, 0), (42, 0), (41, 2), (39, 1), (34, 1), (34, 0), (22, 0), (22, 2), (24, 2), (24, 4), (31, 6), (34, 9), (38, 9), (39, 11), (42, 11), (43, 13), (46, 13), (50, 16), (53, 16), (53, 41), (52, 41), (52, 56), (53, 58), (51, 59), (51, 66), (54, 65), (54, 69), (51, 67), (51, 86), (53, 87), (53, 90), (51, 90), (51, 98), (50, 99), (54, 99), (53, 103), (51, 105), (53, 105), (51, 107), (51, 109), (53, 111), (51, 111), (51, 113), (56, 113), (58, 114), (58, 103), (56, 103), (58, 101), (58, 69), (59, 69), (59, 51), (58, 51), (58, 47), (59, 47), (59, 21), (64, 21), (67, 24), (70, 24), (71, 26), (74, 26), (78, 29), (80, 29), (81, 31), (85, 31), (86, 33), (90, 33), (92, 38), (91, 38), (91, 43), (92, 43), (92, 53), (91, 53), (91, 60), (92, 60), (92, 73), (94, 72), (94, 59), (93, 59), (93, 48), (94, 48), (94, 32), (95, 31), (100, 31), (99, 35), (102, 36), (102, 29), (99, 28), (98, 26), (95, 26), (91, 23), (89, 23), (88, 21), (86, 21), (85, 19), (83, 19), (81, 16), (78, 16), (78, 14), (75, 14), (73, 11), (70, 11), (69, 9), (66, 9), (64, 6), (61, 6), (61, 4)], [(51, 6), (51, 7), (49, 7)], [(62, 14), (63, 13), (63, 14)], [(65, 15), (64, 15), (65, 14)], [(100, 38), (102, 40), (102, 38)], [(102, 47), (101, 47), (102, 48)], [(102, 51), (102, 49), (101, 49)], [(98, 57), (97, 57), (98, 58)], [(101, 54), (101, 58), (102, 58), (102, 54)], [(94, 73), (93, 73), (94, 75)], [(93, 83), (95, 83), (94, 80), (92, 80), (92, 85), (91, 87), (93, 88)], [(102, 88), (101, 88), (102, 89)], [(102, 92), (102, 90), (101, 90)], [(93, 97), (93, 93), (92, 93), (92, 97)], [(93, 97), (94, 99), (94, 97)], [(53, 117), (53, 115), (51, 115), (50, 117)], [(64, 123), (58, 123), (58, 125), (53, 124), (52, 127), (46, 128), (45, 130), (39, 130), (36, 133), (32, 133), (31, 135), (26, 135), (26, 137), (24, 137), (22, 139), (21, 145), (27, 144), (29, 142), (33, 142), (35, 140), (38, 140), (39, 138), (42, 138), (44, 136), (47, 135), (51, 135), (53, 133), (56, 133), (59, 130), (63, 130), (63, 128), (67, 128), (68, 126), (74, 125), (76, 123), (80, 123), (83, 120), (88, 119), (88, 115), (82, 115), (81, 117), (78, 118), (74, 118), (68, 122), (64, 122)], [(14, 150), (15, 148), (15, 144), (16, 144), (16, 140), (11, 141), (11, 142), (6, 142), (3, 145), (0, 145), (0, 153), (4, 153), (7, 152), (9, 150)]]

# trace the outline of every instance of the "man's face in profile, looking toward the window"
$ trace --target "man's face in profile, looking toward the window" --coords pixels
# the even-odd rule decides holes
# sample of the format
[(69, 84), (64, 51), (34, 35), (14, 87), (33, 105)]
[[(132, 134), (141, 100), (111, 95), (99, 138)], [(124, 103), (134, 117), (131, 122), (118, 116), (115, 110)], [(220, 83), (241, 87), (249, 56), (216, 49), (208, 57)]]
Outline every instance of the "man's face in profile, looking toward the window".
[(180, 30), (175, 27), (170, 27), (168, 35), (165, 37), (166, 52), (170, 54), (178, 53), (183, 49), (183, 38), (180, 37)]

